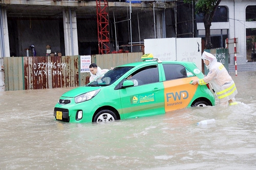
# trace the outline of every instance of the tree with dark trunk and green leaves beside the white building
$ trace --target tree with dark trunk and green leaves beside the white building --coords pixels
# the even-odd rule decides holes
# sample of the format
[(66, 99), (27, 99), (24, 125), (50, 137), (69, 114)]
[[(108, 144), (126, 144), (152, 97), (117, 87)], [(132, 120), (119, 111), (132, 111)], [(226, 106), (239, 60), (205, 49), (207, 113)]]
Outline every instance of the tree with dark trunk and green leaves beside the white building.
[[(191, 3), (191, 0), (183, 0), (185, 3)], [(204, 14), (205, 28), (205, 48), (211, 49), (211, 30), (212, 18), (221, 0), (192, 0), (195, 4), (195, 12)]]

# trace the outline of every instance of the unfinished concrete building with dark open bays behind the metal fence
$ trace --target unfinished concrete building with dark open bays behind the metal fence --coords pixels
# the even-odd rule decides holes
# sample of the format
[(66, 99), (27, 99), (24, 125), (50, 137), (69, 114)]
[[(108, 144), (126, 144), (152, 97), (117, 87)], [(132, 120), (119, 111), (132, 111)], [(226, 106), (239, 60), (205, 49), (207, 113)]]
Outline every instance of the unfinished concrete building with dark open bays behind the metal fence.
[[(1, 56), (141, 52), (144, 39), (196, 37), (193, 4), (174, 1), (2, 0)], [(48, 47), (49, 47), (48, 46)], [(32, 54), (29, 53), (29, 56)]]

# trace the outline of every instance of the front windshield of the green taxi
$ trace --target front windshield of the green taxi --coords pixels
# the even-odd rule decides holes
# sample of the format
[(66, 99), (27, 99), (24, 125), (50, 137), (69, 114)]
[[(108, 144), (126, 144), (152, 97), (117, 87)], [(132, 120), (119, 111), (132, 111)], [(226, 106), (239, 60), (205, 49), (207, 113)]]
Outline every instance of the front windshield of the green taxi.
[(117, 81), (122, 75), (132, 68), (133, 67), (116, 67), (113, 70), (109, 70), (105, 74), (100, 75), (86, 86), (108, 86)]

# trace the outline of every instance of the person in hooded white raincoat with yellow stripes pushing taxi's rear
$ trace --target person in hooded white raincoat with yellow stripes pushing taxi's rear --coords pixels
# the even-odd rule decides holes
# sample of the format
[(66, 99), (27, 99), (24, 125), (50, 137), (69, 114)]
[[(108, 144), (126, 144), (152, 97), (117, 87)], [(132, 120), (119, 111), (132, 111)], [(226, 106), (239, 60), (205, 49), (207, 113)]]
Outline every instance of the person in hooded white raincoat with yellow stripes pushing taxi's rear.
[(221, 105), (237, 104), (235, 100), (235, 95), (237, 94), (236, 85), (228, 74), (227, 69), (222, 63), (217, 62), (216, 57), (211, 53), (204, 51), (202, 59), (207, 69), (209, 69), (209, 73), (203, 79), (192, 81), (191, 84), (204, 85), (211, 83)]

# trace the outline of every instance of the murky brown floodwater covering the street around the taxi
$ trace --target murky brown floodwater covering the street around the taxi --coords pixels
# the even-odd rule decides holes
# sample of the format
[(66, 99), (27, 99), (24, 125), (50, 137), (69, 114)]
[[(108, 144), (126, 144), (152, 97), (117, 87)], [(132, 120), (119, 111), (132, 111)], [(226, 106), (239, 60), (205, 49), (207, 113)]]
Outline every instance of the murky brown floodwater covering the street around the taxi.
[(230, 75), (238, 105), (103, 124), (55, 121), (54, 105), (72, 88), (0, 92), (0, 169), (254, 170), (256, 72)]

